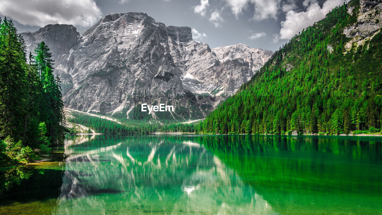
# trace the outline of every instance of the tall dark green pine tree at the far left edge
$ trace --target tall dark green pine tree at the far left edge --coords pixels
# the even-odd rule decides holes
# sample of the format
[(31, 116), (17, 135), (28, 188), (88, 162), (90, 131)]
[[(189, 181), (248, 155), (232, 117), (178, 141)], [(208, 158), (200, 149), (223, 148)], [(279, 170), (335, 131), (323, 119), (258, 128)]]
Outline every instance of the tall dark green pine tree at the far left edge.
[(0, 137), (18, 140), (23, 131), (25, 53), (11, 20), (4, 18), (0, 35)]

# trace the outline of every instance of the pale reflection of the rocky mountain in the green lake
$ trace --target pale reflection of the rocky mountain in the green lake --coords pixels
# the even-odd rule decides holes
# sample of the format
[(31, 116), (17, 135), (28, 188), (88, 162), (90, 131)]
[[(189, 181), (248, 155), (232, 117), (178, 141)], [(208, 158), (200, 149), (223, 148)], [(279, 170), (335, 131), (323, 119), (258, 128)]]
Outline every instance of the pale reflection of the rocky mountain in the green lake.
[(56, 213), (276, 214), (191, 137), (74, 136)]

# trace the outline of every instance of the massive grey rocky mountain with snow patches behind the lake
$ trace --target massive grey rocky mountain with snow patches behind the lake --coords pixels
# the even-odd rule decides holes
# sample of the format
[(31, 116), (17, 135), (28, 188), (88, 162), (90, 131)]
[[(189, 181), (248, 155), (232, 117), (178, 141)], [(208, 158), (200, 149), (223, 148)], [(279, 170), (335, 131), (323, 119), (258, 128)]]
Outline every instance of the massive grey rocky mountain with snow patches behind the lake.
[[(73, 29), (49, 25), (23, 36), (28, 45), (46, 39), (52, 47), (67, 108), (120, 118), (204, 118), (273, 54), (244, 44), (211, 49), (193, 40), (191, 28), (165, 26), (146, 13), (106, 15), (79, 36)], [(142, 114), (141, 103), (173, 105), (175, 112)]]

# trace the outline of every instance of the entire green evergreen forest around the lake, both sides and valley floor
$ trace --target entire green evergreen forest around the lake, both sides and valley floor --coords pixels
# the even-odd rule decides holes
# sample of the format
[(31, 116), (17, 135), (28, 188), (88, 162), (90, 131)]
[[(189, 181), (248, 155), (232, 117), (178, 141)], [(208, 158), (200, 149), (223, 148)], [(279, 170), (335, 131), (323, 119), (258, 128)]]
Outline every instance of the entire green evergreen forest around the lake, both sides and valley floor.
[[(352, 15), (349, 8), (354, 8)], [(360, 134), (382, 126), (382, 33), (345, 45), (359, 0), (334, 8), (280, 47), (207, 118), (195, 124), (114, 122), (74, 114), (68, 119), (102, 134)], [(0, 161), (28, 162), (63, 143), (61, 81), (49, 47), (33, 53), (13, 22), (0, 18)]]

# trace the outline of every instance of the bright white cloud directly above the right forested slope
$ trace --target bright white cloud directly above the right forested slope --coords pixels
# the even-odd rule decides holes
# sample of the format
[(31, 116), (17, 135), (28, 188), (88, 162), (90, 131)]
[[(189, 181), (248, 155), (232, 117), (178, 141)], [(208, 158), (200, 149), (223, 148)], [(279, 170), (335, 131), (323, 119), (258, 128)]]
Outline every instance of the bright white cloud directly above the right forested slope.
[(344, 0), (327, 0), (321, 8), (316, 0), (305, 0), (303, 5), (307, 7), (306, 11), (295, 12), (290, 10), (286, 13), (285, 21), (281, 22), (280, 39), (292, 38), (302, 29), (325, 18), (330, 10), (344, 2)]

